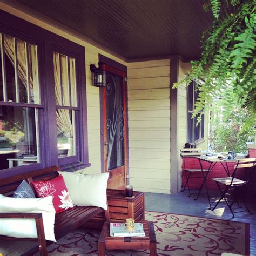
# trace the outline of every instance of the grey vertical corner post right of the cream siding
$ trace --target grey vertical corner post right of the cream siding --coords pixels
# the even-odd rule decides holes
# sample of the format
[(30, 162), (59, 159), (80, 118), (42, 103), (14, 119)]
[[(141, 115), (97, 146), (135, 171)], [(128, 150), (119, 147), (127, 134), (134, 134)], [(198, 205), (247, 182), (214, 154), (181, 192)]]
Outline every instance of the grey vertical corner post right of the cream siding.
[(174, 83), (178, 82), (179, 76), (179, 58), (172, 56), (170, 58), (170, 159), (171, 159), (171, 194), (179, 192), (178, 176), (178, 89), (172, 89)]

